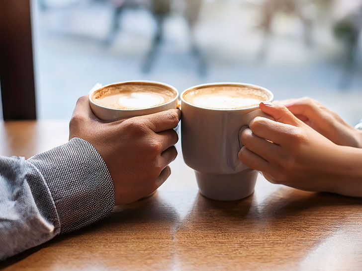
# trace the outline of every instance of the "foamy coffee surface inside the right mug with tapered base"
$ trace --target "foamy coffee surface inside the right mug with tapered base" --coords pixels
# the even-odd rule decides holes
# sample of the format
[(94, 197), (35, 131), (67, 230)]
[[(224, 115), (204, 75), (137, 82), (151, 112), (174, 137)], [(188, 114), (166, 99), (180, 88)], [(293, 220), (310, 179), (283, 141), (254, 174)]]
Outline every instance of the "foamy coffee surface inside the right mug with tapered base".
[(190, 89), (183, 99), (195, 106), (210, 109), (242, 109), (268, 101), (268, 92), (259, 88), (237, 85), (214, 85)]

